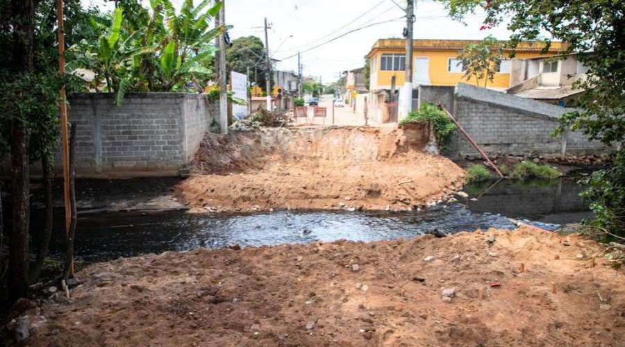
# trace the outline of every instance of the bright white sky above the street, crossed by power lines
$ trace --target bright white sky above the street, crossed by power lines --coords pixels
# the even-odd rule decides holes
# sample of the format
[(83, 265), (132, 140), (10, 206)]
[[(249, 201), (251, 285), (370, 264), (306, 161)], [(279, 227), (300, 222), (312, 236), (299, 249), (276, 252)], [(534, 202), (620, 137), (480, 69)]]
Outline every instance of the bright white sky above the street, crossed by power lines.
[[(103, 0), (82, 0), (103, 10), (113, 8)], [(269, 29), (269, 55), (277, 68), (297, 71), (297, 51), (301, 53), (304, 76), (319, 76), (323, 83), (336, 81), (340, 71), (363, 67), (364, 57), (379, 38), (401, 38), (406, 26), (405, 13), (397, 6), (406, 0), (225, 0), (226, 24), (232, 25), (232, 39), (256, 35), (265, 40), (264, 19)], [(145, 1), (148, 3), (148, 1)], [(172, 0), (179, 6), (182, 0)], [(199, 0), (195, 0), (199, 3)], [(480, 30), (485, 15), (476, 12), (465, 24), (447, 17), (441, 3), (415, 1), (415, 38), (481, 40), (494, 35), (506, 40), (503, 27)], [(387, 22), (392, 21), (392, 22)], [(385, 24), (377, 24), (387, 22)], [(368, 28), (363, 28), (376, 24)], [(326, 43), (349, 31), (360, 29)], [(321, 46), (315, 47), (319, 44)]]

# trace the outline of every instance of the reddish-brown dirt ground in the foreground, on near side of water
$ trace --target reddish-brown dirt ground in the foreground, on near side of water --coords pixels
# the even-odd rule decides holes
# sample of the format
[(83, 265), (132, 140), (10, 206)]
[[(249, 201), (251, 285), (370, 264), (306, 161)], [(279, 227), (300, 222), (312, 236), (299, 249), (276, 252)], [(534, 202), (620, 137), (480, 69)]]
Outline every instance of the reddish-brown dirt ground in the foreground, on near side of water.
[(26, 344), (623, 346), (625, 276), (600, 253), (524, 227), (119, 259)]

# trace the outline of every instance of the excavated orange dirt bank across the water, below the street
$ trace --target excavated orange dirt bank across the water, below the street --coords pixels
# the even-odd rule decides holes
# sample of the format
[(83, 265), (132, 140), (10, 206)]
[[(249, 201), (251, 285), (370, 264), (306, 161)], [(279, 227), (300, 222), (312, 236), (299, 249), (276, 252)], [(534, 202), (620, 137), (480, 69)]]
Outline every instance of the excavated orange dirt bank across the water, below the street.
[(455, 192), (464, 171), (424, 151), (428, 123), (208, 134), (178, 195), (197, 210), (414, 208)]

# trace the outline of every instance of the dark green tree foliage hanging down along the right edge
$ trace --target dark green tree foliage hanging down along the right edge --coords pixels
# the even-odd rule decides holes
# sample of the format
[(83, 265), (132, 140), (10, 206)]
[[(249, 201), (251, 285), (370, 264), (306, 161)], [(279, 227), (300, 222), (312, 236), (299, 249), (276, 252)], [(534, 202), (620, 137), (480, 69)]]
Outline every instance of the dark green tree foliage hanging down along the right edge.
[[(514, 50), (521, 40), (567, 42), (567, 52), (581, 53), (578, 60), (587, 67), (587, 78), (574, 83), (585, 90), (579, 107), (560, 119), (556, 135), (580, 130), (589, 139), (601, 141), (612, 153), (612, 166), (594, 172), (581, 183), (582, 194), (596, 214), (587, 221), (625, 236), (625, 2), (551, 0), (438, 0), (451, 17), (460, 21), (476, 10), (486, 13), (484, 28), (506, 25), (512, 32), (507, 48)], [(547, 31), (546, 37), (542, 33)], [(583, 52), (592, 52), (583, 54)], [(514, 56), (514, 52), (510, 56)], [(619, 145), (619, 146), (618, 146)]]

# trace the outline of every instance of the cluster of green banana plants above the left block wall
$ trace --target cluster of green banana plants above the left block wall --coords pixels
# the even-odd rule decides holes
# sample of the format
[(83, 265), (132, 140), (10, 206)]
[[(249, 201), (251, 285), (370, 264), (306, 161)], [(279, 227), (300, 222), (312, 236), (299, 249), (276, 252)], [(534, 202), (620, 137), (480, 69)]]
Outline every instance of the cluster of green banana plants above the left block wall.
[(94, 71), (90, 87), (116, 93), (117, 105), (126, 92), (201, 91), (213, 74), (215, 46), (206, 42), (226, 29), (211, 24), (222, 2), (208, 3), (184, 1), (176, 13), (169, 0), (150, 1), (150, 10), (121, 2), (90, 20), (94, 35), (68, 49), (67, 72)]

